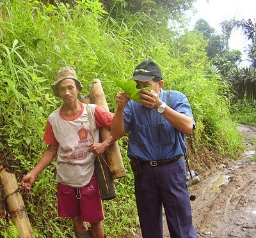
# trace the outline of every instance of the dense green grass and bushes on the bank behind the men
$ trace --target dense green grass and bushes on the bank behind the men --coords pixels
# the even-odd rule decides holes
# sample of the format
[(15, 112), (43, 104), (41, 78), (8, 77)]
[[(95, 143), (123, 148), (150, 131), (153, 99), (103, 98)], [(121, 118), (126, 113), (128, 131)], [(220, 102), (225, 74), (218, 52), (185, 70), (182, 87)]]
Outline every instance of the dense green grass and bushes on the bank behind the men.
[[(131, 77), (143, 60), (156, 61), (163, 69), (164, 87), (185, 93), (193, 108), (197, 127), (188, 137), (191, 165), (202, 166), (204, 160), (196, 163), (200, 156), (205, 163), (213, 154), (236, 158), (241, 139), (230, 119), (230, 84), (211, 66), (202, 33), (172, 31), (166, 12), (156, 10), (153, 1), (145, 11), (136, 12), (125, 11), (122, 1), (109, 12), (99, 1), (89, 0), (76, 1), (76, 7), (35, 0), (0, 4), (0, 159), (18, 181), (45, 149), (41, 140), (47, 115), (61, 105), (50, 85), (65, 65), (76, 68), (82, 94), (88, 94), (93, 78), (100, 78), (109, 110), (115, 112), (120, 89), (112, 79)], [(162, 18), (154, 19), (152, 11)], [(127, 176), (115, 181), (117, 197), (103, 204), (104, 228), (112, 238), (138, 229), (127, 138), (119, 144)], [(33, 190), (22, 191), (22, 197), (36, 237), (73, 237), (70, 221), (56, 213), (54, 176), (53, 163), (38, 176)], [(17, 237), (10, 217), (0, 218), (0, 235)]]

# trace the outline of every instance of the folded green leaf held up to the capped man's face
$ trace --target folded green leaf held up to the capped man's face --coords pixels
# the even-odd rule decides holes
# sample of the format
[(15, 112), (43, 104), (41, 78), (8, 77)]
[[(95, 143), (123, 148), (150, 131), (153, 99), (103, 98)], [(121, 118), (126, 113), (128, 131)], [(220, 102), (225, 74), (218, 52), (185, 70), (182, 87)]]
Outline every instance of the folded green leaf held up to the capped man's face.
[(147, 91), (151, 91), (150, 87), (137, 89), (136, 82), (134, 80), (124, 81), (124, 80), (113, 79), (113, 81), (115, 82), (116, 86), (121, 87), (125, 93), (130, 95), (130, 98), (132, 100), (137, 101), (138, 103), (140, 103), (139, 101), (140, 96), (138, 93), (140, 93), (141, 90), (145, 89)]

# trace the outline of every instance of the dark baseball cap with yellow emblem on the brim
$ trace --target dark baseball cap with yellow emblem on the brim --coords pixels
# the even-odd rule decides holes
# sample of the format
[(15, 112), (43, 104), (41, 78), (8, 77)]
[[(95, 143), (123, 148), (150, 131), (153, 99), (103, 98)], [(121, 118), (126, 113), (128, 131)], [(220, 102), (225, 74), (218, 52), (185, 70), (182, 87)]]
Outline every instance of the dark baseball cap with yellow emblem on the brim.
[(163, 79), (162, 71), (153, 61), (143, 61), (136, 66), (133, 76), (128, 80), (149, 81), (157, 77), (158, 81)]

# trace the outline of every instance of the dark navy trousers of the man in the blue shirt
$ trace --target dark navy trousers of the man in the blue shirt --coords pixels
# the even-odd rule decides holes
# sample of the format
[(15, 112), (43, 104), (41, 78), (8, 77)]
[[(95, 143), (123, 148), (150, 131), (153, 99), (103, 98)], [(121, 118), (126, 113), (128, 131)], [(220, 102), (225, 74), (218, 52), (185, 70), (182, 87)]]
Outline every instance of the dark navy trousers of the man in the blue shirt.
[(170, 165), (141, 164), (135, 195), (143, 238), (163, 238), (163, 207), (172, 238), (198, 237), (192, 223), (183, 158)]

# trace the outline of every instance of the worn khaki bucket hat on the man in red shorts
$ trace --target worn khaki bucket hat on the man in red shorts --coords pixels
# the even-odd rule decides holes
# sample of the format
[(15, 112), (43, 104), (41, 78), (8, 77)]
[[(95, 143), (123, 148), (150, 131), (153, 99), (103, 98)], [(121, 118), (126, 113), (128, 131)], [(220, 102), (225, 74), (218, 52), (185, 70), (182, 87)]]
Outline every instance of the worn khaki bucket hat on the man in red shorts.
[(74, 68), (72, 68), (70, 66), (65, 66), (65, 67), (60, 68), (60, 70), (58, 71), (57, 76), (56, 76), (56, 82), (51, 84), (52, 91), (55, 96), (60, 97), (60, 94), (58, 91), (58, 83), (67, 78), (72, 78), (73, 80), (75, 80), (77, 82), (76, 86), (77, 86), (77, 89), (79, 90), (79, 92), (83, 89), (83, 85), (78, 80), (76, 71), (74, 70)]

